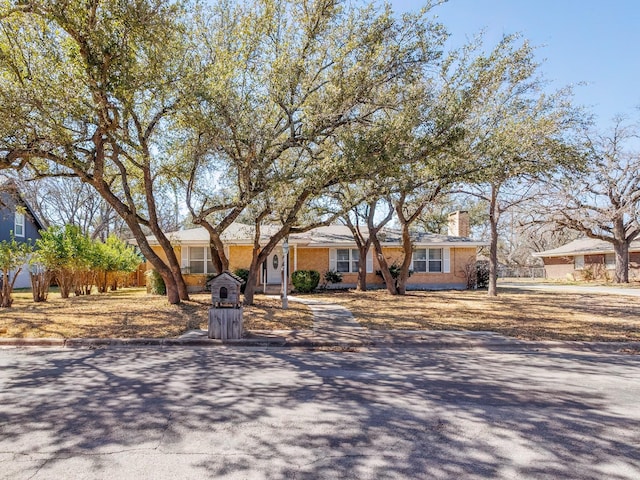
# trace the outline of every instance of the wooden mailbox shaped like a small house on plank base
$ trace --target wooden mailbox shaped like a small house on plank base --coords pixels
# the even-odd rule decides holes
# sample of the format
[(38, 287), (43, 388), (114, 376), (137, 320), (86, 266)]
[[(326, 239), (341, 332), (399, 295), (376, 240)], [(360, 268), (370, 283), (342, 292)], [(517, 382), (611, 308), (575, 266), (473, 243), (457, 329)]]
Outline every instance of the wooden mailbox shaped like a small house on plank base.
[(244, 281), (224, 271), (213, 277), (207, 285), (211, 289), (209, 309), (209, 338), (220, 340), (242, 338), (242, 305), (240, 286)]

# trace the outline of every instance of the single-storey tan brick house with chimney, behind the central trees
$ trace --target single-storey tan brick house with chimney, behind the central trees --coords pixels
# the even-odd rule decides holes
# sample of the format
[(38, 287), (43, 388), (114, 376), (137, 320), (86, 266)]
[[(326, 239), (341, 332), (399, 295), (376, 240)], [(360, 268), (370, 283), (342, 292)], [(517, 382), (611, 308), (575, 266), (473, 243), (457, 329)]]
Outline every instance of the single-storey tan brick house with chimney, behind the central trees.
[[(263, 245), (276, 227), (261, 227)], [(249, 268), (253, 247), (254, 228), (239, 223), (232, 224), (222, 235), (225, 253), (229, 258), (229, 268)], [(456, 212), (450, 216), (449, 235), (429, 233), (414, 236), (414, 252), (407, 288), (410, 289), (463, 289), (467, 281), (465, 267), (475, 264), (476, 249), (486, 245), (468, 238), (469, 221), (466, 212)], [(192, 291), (201, 290), (207, 275), (215, 274), (209, 250), (209, 235), (204, 228), (182, 230), (168, 234), (174, 245), (176, 256), (181, 259), (185, 281)], [(401, 235), (398, 230), (386, 229), (381, 233), (383, 251), (387, 262), (400, 261), (402, 255)], [(149, 237), (153, 249), (164, 258), (154, 237)], [(364, 261), (367, 269), (367, 284), (383, 287), (382, 277), (376, 275), (378, 260), (373, 246)], [(258, 289), (278, 291), (283, 280), (282, 244), (278, 245), (269, 259), (261, 267)], [(330, 225), (316, 228), (306, 233), (289, 236), (289, 275), (296, 270), (317, 270), (323, 275), (328, 270), (342, 273), (339, 287), (355, 287), (357, 282), (358, 249), (344, 225)], [(152, 268), (147, 264), (147, 268)], [(291, 285), (291, 282), (288, 282)]]

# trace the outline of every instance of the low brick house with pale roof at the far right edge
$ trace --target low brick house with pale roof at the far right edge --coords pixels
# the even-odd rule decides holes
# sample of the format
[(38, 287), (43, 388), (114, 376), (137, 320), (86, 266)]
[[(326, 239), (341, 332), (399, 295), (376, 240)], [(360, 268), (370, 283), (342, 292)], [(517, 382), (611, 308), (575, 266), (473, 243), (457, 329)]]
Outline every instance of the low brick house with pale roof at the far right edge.
[[(573, 277), (591, 280), (613, 277), (616, 258), (613, 245), (602, 240), (580, 238), (553, 250), (534, 253), (542, 258), (547, 278)], [(640, 278), (640, 240), (629, 246), (629, 278)]]

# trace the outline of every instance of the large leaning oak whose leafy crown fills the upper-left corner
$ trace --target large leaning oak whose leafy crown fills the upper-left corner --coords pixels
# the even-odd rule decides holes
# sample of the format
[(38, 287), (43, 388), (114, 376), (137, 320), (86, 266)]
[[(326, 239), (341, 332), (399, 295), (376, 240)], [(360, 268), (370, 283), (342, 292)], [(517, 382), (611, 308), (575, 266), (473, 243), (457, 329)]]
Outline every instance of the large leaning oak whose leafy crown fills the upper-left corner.
[(185, 31), (181, 6), (160, 0), (26, 0), (0, 10), (1, 166), (91, 185), (162, 275), (171, 303), (188, 294), (156, 192), (171, 163), (163, 132), (190, 94), (180, 88)]

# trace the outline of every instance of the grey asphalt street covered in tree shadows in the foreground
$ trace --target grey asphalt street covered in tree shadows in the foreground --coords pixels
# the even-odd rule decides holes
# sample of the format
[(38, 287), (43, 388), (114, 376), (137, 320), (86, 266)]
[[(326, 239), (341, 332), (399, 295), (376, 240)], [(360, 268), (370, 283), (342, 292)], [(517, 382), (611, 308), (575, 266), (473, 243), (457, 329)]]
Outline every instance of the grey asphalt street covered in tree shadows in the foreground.
[(640, 478), (640, 356), (0, 349), (0, 478)]

